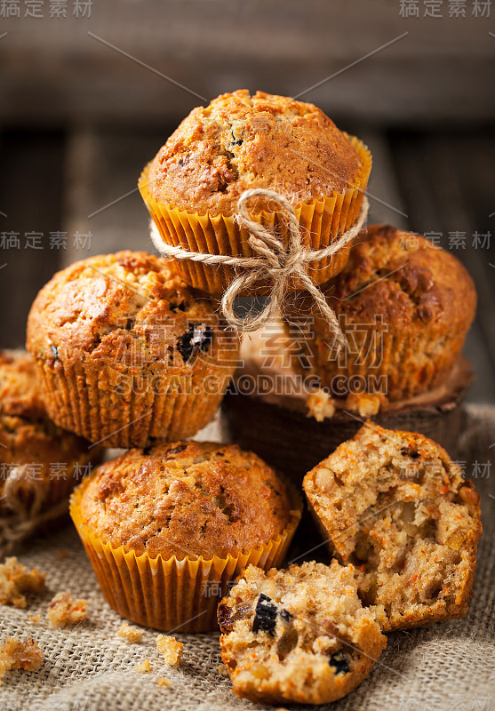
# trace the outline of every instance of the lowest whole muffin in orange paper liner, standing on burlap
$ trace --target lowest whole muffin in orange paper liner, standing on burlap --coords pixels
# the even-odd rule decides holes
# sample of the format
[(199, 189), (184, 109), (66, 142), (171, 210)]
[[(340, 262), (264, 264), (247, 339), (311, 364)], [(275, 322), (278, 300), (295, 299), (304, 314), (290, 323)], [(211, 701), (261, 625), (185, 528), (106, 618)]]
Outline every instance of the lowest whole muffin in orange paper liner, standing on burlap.
[(197, 616), (181, 631), (198, 631), (214, 627), (219, 597), (247, 563), (282, 561), (300, 506), (255, 454), (179, 442), (101, 465), (71, 515), (116, 611), (160, 629)]

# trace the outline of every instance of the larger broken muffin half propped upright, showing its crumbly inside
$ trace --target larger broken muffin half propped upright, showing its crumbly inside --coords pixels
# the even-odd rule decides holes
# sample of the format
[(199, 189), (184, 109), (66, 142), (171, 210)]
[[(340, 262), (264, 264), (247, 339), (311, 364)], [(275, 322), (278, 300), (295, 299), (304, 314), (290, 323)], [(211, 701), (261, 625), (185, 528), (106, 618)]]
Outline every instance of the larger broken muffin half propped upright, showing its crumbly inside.
[(332, 554), (354, 565), (384, 630), (467, 614), (480, 499), (442, 447), (368, 421), (303, 485)]

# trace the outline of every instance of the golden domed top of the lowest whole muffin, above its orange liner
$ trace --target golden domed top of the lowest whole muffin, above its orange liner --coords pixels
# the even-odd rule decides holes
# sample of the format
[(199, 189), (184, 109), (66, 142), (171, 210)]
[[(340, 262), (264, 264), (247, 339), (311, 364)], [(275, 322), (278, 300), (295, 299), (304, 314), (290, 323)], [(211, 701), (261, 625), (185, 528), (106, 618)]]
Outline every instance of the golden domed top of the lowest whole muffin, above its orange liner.
[(283, 482), (234, 444), (179, 442), (130, 450), (81, 485), (81, 521), (137, 555), (226, 557), (258, 547), (291, 518)]

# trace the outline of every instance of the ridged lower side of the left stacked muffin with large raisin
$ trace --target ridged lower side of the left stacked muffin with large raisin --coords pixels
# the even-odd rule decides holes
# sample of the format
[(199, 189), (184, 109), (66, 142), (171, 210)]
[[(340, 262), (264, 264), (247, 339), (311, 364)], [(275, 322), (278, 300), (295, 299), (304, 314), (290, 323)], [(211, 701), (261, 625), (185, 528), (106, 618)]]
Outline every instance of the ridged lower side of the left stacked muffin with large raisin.
[[(195, 435), (215, 416), (231, 374), (226, 367), (206, 366), (191, 376), (187, 392), (180, 393), (169, 383), (159, 393), (151, 387), (138, 393), (131, 387), (124, 396), (117, 387), (128, 374), (104, 363), (82, 361), (70, 368), (60, 364), (53, 370), (38, 361), (36, 367), (51, 419), (107, 447), (144, 447), (151, 437), (173, 441)], [(201, 385), (207, 376), (219, 378), (218, 392), (204, 392)]]

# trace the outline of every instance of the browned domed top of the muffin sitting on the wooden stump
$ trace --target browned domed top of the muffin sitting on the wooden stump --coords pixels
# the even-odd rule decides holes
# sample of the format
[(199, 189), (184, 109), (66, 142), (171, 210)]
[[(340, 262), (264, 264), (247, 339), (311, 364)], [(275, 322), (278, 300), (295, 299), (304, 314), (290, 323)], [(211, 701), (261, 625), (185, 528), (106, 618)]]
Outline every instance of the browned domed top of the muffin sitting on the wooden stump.
[(373, 225), (356, 237), (346, 267), (325, 289), (332, 306), (371, 324), (435, 324), (467, 331), (475, 317), (473, 280), (449, 252), (411, 232)]

